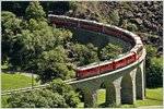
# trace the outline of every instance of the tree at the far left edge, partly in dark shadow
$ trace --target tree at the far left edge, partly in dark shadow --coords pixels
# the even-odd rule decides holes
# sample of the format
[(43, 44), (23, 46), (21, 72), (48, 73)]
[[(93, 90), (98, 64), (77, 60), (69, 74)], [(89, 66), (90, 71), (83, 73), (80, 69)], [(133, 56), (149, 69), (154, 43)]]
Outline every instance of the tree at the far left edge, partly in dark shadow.
[[(13, 53), (13, 46), (16, 41), (16, 34), (22, 28), (22, 20), (17, 19), (15, 14), (2, 11), (1, 14), (2, 23), (2, 63), (11, 58)], [(19, 47), (17, 47), (19, 48)]]

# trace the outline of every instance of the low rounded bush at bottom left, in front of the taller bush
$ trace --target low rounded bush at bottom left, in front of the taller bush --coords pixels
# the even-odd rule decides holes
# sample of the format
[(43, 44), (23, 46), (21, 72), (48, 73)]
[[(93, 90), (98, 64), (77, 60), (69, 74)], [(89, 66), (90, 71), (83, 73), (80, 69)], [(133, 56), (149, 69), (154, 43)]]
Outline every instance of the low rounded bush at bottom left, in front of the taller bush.
[(61, 95), (48, 89), (14, 94), (8, 99), (10, 108), (67, 108)]

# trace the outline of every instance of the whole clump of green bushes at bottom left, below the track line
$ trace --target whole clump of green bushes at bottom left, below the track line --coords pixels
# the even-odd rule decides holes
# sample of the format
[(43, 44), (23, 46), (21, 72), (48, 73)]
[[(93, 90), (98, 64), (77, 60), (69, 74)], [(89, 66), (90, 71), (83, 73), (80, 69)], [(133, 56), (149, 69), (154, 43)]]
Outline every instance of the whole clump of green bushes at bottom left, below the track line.
[(11, 108), (75, 108), (79, 102), (79, 94), (59, 78), (45, 89), (13, 94), (8, 98)]

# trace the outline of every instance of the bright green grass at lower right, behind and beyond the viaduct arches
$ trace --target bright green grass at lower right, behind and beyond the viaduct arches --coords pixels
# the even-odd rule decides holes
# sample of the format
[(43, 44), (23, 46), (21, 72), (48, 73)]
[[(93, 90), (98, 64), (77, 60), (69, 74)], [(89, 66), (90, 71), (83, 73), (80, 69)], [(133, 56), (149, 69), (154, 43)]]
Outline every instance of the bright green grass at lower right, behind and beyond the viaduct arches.
[[(97, 102), (98, 107), (104, 107), (105, 105), (105, 89), (98, 89)], [(137, 100), (134, 105), (121, 105), (121, 108), (134, 108), (142, 106), (162, 106), (163, 105), (163, 88), (147, 88), (147, 97), (144, 100)], [(84, 102), (79, 104), (79, 108), (82, 108)]]

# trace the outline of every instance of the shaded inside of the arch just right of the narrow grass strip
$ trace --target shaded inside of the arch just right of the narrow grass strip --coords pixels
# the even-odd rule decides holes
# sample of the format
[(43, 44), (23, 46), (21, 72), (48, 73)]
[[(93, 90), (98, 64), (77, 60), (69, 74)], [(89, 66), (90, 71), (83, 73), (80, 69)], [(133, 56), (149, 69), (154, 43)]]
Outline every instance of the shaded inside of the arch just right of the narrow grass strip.
[(116, 104), (116, 87), (110, 81), (104, 83), (106, 88), (106, 104)]

